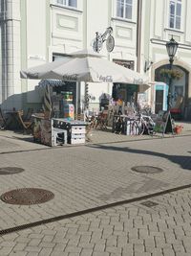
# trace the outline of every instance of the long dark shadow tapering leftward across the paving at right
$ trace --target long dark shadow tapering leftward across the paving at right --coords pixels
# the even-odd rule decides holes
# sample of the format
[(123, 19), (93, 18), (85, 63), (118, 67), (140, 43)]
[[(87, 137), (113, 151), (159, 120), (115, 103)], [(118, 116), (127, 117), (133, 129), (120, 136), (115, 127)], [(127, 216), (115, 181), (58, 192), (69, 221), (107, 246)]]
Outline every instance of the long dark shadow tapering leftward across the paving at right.
[(134, 150), (129, 147), (121, 148), (116, 146), (106, 146), (106, 145), (89, 145), (88, 147), (99, 149), (99, 150), (106, 150), (106, 151), (123, 151), (123, 152), (130, 152), (130, 153), (138, 153), (138, 154), (147, 154), (152, 156), (158, 156), (162, 158), (166, 158), (169, 161), (180, 165), (182, 169), (191, 170), (191, 156), (186, 155), (171, 155), (156, 151), (145, 151), (145, 150)]

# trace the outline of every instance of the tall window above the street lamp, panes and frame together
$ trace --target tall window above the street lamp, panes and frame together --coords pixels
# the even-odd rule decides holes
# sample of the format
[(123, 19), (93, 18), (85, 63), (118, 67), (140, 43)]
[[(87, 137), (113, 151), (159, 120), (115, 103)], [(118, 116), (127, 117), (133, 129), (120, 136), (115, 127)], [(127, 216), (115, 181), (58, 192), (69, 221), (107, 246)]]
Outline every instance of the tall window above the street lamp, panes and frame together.
[(171, 29), (180, 30), (180, 18), (181, 18), (181, 0), (170, 0), (169, 27)]

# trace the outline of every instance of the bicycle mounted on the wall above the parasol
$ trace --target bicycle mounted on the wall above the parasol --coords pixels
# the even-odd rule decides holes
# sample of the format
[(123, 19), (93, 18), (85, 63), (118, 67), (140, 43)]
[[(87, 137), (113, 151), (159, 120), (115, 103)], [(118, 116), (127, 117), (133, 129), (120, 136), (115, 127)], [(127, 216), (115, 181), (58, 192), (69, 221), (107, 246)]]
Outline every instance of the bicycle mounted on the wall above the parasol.
[(113, 33), (112, 27), (107, 28), (102, 35), (96, 32), (96, 38), (93, 40), (93, 50), (96, 53), (99, 53), (101, 51), (104, 41), (106, 41), (106, 49), (109, 53), (111, 53), (114, 50), (115, 39), (114, 39), (114, 36), (111, 35), (112, 33)]

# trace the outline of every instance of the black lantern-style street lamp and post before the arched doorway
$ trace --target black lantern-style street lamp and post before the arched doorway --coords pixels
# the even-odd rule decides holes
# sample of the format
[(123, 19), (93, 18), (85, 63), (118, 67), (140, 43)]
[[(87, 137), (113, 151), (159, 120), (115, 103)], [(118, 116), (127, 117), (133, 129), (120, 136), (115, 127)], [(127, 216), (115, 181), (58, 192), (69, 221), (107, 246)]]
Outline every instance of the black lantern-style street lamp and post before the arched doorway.
[[(178, 47), (179, 47), (179, 43), (175, 41), (173, 36), (170, 39), (170, 41), (166, 43), (166, 50), (167, 50), (168, 57), (169, 57), (169, 62), (170, 62), (170, 70), (172, 70), (174, 57), (177, 53)], [(168, 96), (167, 96), (167, 107), (168, 107), (168, 110), (170, 110), (170, 106), (171, 106), (171, 86), (172, 86), (172, 76), (171, 76), (171, 74), (170, 74), (170, 79), (169, 79), (169, 84), (168, 85), (169, 85), (169, 88), (168, 88)]]

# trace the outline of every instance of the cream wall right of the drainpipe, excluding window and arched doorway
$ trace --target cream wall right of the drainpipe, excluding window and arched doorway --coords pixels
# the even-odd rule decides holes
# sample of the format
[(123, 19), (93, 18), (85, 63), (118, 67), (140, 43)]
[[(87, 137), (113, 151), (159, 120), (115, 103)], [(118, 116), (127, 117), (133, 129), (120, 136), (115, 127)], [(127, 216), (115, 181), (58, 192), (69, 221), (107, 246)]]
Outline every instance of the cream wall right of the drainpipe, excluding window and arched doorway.
[[(151, 68), (146, 72), (155, 80), (155, 71), (159, 66), (169, 63), (166, 51), (166, 42), (173, 38), (179, 42), (179, 48), (175, 57), (174, 65), (177, 65), (188, 72), (188, 99), (185, 99), (186, 113), (191, 110), (191, 80), (190, 80), (190, 59), (191, 59), (191, 34), (190, 22), (191, 3), (188, 0), (181, 1), (181, 22), (180, 30), (169, 28), (169, 0), (143, 0), (143, 27), (145, 38), (142, 47), (142, 56), (145, 60), (153, 61)], [(149, 25), (149, 26), (148, 26)], [(155, 86), (152, 85), (149, 92), (149, 104), (155, 110)], [(190, 116), (191, 117), (191, 116)]]

